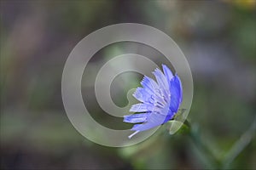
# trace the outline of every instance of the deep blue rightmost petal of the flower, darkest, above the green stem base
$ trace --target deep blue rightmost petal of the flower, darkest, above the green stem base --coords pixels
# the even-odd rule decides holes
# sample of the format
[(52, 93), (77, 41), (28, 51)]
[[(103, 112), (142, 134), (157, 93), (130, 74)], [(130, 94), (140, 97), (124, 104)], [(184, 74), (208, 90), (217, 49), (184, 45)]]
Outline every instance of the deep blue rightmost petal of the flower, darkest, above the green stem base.
[(171, 80), (171, 86), (170, 86), (170, 92), (171, 92), (170, 110), (174, 113), (177, 112), (178, 107), (182, 102), (182, 99), (183, 99), (182, 90), (183, 89), (182, 89), (181, 81), (179, 77), (175, 75), (175, 77), (173, 77)]

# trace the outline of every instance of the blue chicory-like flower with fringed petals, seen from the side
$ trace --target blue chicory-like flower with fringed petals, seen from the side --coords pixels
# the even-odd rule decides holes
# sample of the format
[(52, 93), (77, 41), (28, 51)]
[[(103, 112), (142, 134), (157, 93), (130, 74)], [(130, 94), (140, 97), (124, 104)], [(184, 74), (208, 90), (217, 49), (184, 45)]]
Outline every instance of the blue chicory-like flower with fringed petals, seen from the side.
[(182, 83), (172, 71), (162, 65), (163, 71), (153, 71), (156, 82), (149, 77), (143, 77), (143, 88), (139, 87), (133, 96), (141, 103), (132, 105), (130, 111), (138, 112), (124, 116), (124, 122), (137, 123), (132, 128), (129, 138), (139, 132), (160, 126), (173, 118), (183, 100)]

